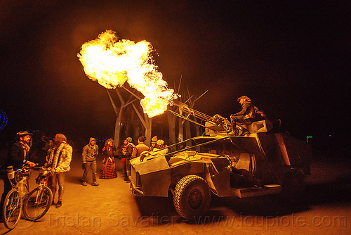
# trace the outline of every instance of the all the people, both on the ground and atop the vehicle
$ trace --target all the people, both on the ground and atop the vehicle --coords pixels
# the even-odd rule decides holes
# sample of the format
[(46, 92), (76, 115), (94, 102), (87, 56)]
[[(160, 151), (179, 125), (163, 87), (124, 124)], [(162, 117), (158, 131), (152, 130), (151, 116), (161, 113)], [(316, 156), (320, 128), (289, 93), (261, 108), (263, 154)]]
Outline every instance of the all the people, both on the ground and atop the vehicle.
[[(242, 125), (250, 124), (256, 120), (263, 120), (266, 117), (262, 110), (259, 110), (256, 106), (253, 106), (251, 99), (248, 96), (240, 96), (238, 99), (241, 104), (241, 111), (234, 113), (230, 116), (232, 132), (236, 135), (244, 135), (249, 133)], [(6, 159), (3, 168), (13, 166), (13, 170), (18, 170), (22, 165), (29, 165), (33, 167), (36, 163), (29, 160), (30, 151), (30, 140), (32, 133), (29, 132), (18, 132), (18, 141), (13, 144), (8, 151), (8, 158)], [(138, 139), (138, 145), (132, 143), (133, 139), (127, 137), (121, 146), (121, 165), (124, 174), (124, 180), (128, 182), (127, 170), (130, 169), (129, 160), (132, 158), (139, 157), (145, 151), (159, 151), (160, 153), (168, 153), (168, 148), (164, 145), (162, 139), (157, 139), (157, 136), (152, 138), (152, 145), (147, 146), (145, 144), (146, 137), (140, 136)], [(117, 177), (116, 165), (114, 163), (114, 153), (117, 148), (114, 146), (113, 139), (107, 139), (105, 145), (102, 148), (102, 170), (100, 179), (113, 179)], [(96, 144), (96, 139), (91, 138), (89, 143), (84, 146), (82, 151), (82, 168), (84, 170), (81, 184), (86, 186), (86, 176), (88, 169), (91, 169), (93, 177), (93, 186), (99, 186), (96, 180), (97, 164), (96, 156), (99, 153), (99, 147)], [(72, 146), (67, 143), (67, 138), (64, 134), (56, 134), (53, 138), (53, 143), (48, 148), (46, 154), (45, 167), (51, 168), (53, 173), (51, 175), (51, 189), (55, 198), (55, 193), (58, 189), (58, 201), (55, 204), (56, 208), (60, 208), (62, 205), (62, 196), (65, 189), (65, 174), (70, 170), (70, 163), (72, 160)], [(1, 207), (4, 203), (4, 198), (8, 191), (11, 190), (11, 182), (7, 177), (4, 178), (4, 193), (1, 196)]]

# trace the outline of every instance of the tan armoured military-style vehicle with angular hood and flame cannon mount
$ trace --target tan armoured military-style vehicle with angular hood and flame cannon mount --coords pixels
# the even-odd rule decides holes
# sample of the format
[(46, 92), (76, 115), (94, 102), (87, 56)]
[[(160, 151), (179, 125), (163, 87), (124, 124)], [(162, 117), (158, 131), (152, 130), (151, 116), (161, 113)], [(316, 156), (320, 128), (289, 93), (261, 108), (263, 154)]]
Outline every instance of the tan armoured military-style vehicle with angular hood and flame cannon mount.
[[(184, 111), (192, 114), (190, 108)], [(211, 194), (247, 198), (280, 193), (292, 201), (303, 196), (303, 177), (310, 174), (305, 142), (274, 132), (267, 120), (246, 126), (250, 134), (235, 136), (226, 132), (225, 118), (215, 117), (202, 117), (206, 134), (192, 138), (190, 148), (131, 159), (127, 173), (132, 193), (167, 197), (171, 192), (176, 211), (187, 220), (206, 213)], [(246, 182), (237, 170), (262, 184)]]

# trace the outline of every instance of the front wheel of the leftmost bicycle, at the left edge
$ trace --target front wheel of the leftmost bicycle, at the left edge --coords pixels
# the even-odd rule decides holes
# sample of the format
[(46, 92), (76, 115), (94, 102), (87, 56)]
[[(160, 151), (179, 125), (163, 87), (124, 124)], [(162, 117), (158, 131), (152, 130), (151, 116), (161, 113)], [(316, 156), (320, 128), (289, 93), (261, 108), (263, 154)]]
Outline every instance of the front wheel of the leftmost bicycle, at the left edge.
[(14, 229), (22, 214), (22, 198), (18, 189), (11, 189), (6, 195), (2, 215), (5, 227)]

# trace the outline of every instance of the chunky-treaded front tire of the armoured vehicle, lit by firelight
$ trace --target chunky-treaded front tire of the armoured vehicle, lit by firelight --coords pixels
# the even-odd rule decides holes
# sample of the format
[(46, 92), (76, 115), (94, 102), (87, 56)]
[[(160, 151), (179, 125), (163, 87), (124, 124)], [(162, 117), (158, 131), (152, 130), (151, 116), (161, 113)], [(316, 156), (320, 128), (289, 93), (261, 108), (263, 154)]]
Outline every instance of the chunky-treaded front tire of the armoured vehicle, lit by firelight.
[(197, 175), (180, 179), (173, 195), (173, 204), (178, 214), (187, 220), (204, 215), (211, 201), (211, 191), (206, 181)]

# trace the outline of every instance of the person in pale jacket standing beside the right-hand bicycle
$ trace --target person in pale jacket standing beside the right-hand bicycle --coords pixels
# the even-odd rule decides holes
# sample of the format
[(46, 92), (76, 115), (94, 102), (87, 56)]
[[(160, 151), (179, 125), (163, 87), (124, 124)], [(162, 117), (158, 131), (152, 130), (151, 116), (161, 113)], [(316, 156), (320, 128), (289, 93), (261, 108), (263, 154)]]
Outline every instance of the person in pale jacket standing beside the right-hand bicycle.
[(53, 191), (53, 198), (55, 198), (56, 186), (58, 184), (58, 203), (56, 203), (56, 208), (60, 208), (62, 206), (62, 196), (65, 189), (66, 172), (71, 170), (69, 165), (72, 160), (73, 149), (67, 143), (64, 134), (56, 134), (53, 138), (53, 144), (53, 148), (48, 151), (48, 163), (46, 163), (46, 167), (53, 169), (51, 190)]

